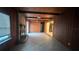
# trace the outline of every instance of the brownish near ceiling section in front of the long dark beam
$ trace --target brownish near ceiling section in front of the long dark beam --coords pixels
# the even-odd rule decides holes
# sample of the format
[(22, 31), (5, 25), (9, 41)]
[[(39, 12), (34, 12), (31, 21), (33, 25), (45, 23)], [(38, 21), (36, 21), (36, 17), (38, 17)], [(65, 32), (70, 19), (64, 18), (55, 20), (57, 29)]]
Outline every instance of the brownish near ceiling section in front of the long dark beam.
[(63, 7), (20, 7), (19, 9), (21, 11), (62, 13), (65, 8)]

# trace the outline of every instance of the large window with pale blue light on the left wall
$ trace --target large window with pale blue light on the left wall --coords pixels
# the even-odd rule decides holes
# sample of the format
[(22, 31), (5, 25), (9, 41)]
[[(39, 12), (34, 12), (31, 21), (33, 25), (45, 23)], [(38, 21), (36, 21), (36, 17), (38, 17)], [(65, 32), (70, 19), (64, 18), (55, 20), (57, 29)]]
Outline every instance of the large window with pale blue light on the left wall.
[(0, 13), (0, 44), (10, 39), (10, 16)]

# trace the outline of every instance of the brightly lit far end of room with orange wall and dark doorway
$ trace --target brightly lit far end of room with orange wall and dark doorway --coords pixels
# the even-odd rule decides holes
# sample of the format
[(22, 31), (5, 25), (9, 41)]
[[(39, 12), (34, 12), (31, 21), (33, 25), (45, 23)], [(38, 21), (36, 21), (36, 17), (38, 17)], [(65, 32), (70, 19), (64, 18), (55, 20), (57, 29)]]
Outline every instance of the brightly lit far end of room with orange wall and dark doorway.
[(26, 32), (45, 33), (53, 37), (54, 21), (26, 21)]

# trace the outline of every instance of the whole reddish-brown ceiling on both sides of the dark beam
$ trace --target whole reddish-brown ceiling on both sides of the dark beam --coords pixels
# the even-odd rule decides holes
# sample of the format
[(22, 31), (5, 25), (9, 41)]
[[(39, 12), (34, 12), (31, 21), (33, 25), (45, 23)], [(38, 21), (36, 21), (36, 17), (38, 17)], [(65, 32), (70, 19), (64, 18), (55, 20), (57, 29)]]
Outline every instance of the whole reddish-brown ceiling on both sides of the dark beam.
[(59, 7), (20, 7), (19, 10), (25, 14), (28, 20), (38, 20), (39, 18), (40, 20), (49, 20), (54, 18), (54, 15), (51, 13), (64, 12), (64, 8)]

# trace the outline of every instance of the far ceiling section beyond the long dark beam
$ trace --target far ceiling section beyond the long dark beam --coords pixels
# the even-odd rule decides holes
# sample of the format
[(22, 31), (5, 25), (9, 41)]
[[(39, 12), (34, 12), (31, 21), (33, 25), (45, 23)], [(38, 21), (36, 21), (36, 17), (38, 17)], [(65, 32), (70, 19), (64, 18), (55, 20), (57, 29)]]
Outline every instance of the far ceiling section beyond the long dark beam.
[(54, 15), (48, 15), (48, 14), (32, 14), (32, 13), (27, 13), (25, 14), (26, 18), (28, 20), (49, 20), (49, 19), (53, 19)]

